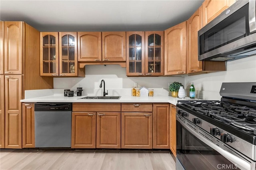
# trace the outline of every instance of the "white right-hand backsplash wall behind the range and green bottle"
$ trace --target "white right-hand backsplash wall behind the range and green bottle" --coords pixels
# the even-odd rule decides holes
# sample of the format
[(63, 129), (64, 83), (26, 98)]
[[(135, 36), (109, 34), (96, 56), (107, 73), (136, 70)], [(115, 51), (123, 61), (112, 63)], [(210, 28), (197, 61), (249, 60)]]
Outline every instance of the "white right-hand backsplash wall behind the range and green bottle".
[(227, 61), (227, 71), (185, 77), (186, 95), (194, 82), (200, 99), (220, 100), (220, 87), (224, 82), (256, 82), (256, 55)]

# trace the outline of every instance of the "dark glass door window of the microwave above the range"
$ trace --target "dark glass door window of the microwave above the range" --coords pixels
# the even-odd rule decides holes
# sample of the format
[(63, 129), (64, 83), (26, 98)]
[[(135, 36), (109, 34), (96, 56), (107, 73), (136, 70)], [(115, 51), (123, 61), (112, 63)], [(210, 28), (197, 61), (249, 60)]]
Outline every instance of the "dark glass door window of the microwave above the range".
[(250, 34), (248, 4), (199, 37), (200, 55), (239, 40)]

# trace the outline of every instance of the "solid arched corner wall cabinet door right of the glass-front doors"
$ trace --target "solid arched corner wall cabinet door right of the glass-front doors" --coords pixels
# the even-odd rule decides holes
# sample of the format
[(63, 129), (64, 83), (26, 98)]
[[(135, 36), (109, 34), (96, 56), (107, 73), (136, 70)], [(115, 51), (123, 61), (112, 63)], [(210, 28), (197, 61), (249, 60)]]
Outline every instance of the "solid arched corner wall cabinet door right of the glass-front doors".
[(186, 21), (164, 31), (164, 75), (186, 73)]

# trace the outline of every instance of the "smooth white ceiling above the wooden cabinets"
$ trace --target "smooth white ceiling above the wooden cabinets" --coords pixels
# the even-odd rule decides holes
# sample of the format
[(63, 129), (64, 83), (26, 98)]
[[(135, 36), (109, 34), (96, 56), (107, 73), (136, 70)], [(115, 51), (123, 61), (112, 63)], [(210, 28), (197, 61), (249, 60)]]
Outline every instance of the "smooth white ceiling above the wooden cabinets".
[(0, 0), (0, 20), (40, 32), (158, 31), (187, 20), (204, 0)]

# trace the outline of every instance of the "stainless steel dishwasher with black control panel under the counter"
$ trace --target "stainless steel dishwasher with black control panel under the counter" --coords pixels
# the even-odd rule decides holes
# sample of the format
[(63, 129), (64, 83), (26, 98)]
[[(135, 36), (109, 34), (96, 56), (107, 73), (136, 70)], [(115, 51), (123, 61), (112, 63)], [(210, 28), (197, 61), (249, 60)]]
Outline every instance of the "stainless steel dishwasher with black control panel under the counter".
[(72, 103), (35, 103), (35, 147), (71, 147)]

